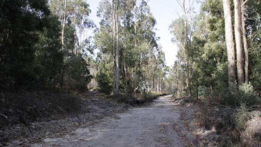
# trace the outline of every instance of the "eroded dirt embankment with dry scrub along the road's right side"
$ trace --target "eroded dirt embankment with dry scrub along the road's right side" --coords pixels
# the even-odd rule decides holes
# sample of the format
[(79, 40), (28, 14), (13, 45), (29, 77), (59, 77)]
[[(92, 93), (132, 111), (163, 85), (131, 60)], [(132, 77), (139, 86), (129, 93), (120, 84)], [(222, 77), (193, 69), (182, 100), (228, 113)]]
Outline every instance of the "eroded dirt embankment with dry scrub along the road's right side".
[[(192, 134), (199, 141), (198, 146), (260, 146), (260, 111), (231, 108), (208, 99), (191, 100), (184, 97), (175, 99), (175, 102), (188, 110), (181, 113), (180, 120), (189, 133), (179, 133), (189, 139), (188, 143), (193, 142), (190, 139)], [(174, 127), (178, 131), (179, 128)]]

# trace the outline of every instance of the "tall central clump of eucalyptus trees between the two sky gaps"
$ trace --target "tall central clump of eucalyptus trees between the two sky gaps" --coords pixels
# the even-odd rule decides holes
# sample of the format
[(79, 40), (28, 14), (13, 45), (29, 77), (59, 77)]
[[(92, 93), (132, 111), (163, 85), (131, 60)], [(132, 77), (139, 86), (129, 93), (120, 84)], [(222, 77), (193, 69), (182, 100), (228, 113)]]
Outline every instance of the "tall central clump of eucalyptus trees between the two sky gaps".
[[(118, 67), (119, 90), (128, 94), (133, 93), (135, 89), (140, 92), (154, 91), (155, 87), (152, 85), (157, 82), (155, 77), (157, 74), (162, 74), (162, 72), (157, 73), (156, 41), (158, 38), (154, 32), (156, 20), (146, 1), (119, 0), (118, 6), (117, 10), (117, 1), (104, 0), (99, 3), (97, 16), (101, 18), (101, 28), (94, 39), (99, 49), (101, 72), (106, 72), (103, 74), (106, 76), (104, 78), (111, 80), (111, 83), (107, 82), (107, 84), (112, 87), (113, 92), (114, 83), (117, 90)], [(118, 41), (117, 12), (120, 34)], [(120, 57), (118, 63), (117, 46), (119, 46)], [(160, 80), (158, 81), (160, 84)]]

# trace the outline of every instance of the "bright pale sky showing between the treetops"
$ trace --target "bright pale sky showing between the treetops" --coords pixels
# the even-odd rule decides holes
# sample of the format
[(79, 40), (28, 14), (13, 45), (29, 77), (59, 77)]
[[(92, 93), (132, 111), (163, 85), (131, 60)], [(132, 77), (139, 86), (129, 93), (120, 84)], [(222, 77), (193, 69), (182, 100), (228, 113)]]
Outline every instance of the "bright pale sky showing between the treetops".
[[(97, 26), (99, 26), (100, 19), (96, 16), (96, 12), (100, 1), (101, 0), (87, 0), (92, 11), (90, 19), (92, 19)], [(178, 18), (177, 12), (182, 15), (182, 9), (176, 0), (149, 0), (148, 5), (157, 21), (157, 25), (155, 26), (157, 31), (155, 32), (156, 36), (160, 37), (157, 43), (163, 47), (162, 50), (165, 52), (166, 65), (171, 66), (176, 60), (177, 47), (171, 42), (173, 36), (169, 33), (168, 27), (172, 20)], [(195, 4), (194, 7), (198, 12), (198, 4)]]

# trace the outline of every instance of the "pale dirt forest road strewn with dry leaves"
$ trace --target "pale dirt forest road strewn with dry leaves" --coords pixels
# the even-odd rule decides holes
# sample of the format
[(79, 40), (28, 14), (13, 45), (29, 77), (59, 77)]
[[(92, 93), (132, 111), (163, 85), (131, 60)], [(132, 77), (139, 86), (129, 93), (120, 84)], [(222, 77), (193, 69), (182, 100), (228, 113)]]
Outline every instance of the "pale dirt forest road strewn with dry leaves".
[(118, 114), (119, 119), (107, 117), (95, 126), (77, 129), (61, 138), (46, 138), (32, 146), (182, 147), (182, 141), (173, 129), (180, 116), (176, 105), (171, 95), (159, 97), (150, 106)]

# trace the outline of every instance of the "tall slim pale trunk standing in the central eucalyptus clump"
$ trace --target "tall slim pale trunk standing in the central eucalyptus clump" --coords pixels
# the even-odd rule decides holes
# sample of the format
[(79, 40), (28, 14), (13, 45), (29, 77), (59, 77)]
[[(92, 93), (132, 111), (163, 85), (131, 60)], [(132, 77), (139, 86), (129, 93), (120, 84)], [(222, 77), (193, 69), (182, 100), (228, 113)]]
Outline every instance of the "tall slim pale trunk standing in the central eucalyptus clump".
[(116, 15), (116, 96), (119, 95), (119, 0), (117, 0), (117, 15)]

